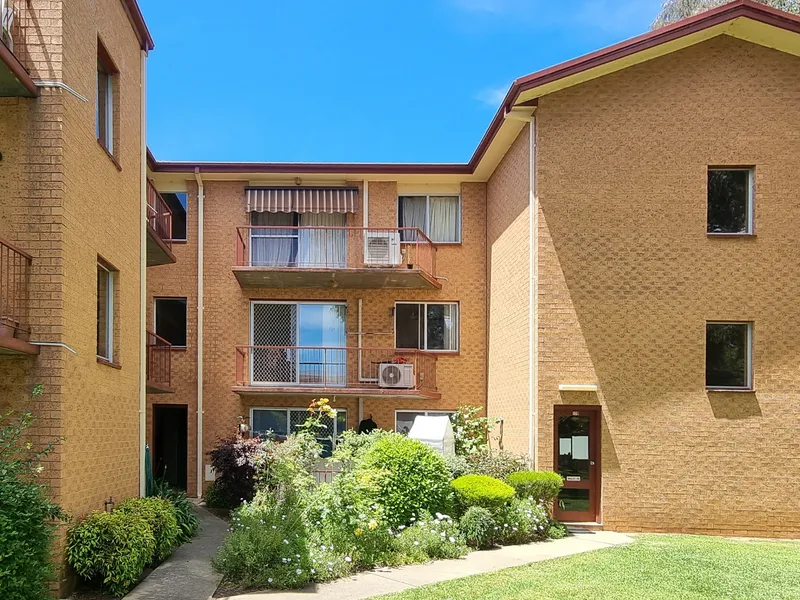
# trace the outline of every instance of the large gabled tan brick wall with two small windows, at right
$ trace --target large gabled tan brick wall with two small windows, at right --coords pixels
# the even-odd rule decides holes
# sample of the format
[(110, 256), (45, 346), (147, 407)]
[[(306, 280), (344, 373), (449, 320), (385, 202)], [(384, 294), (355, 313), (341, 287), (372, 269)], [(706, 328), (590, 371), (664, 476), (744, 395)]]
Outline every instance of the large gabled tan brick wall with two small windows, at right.
[[(553, 405), (600, 404), (607, 528), (800, 533), (798, 61), (723, 36), (540, 100), (541, 467)], [(755, 165), (757, 237), (706, 235), (708, 165)], [(752, 393), (705, 390), (717, 319)]]

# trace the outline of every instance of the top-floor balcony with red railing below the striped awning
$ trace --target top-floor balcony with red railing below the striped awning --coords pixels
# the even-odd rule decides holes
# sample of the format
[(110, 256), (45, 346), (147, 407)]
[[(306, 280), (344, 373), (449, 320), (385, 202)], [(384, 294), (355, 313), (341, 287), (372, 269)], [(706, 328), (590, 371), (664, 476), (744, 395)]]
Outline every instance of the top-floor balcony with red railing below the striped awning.
[(436, 244), (419, 229), (239, 227), (244, 288), (441, 289)]

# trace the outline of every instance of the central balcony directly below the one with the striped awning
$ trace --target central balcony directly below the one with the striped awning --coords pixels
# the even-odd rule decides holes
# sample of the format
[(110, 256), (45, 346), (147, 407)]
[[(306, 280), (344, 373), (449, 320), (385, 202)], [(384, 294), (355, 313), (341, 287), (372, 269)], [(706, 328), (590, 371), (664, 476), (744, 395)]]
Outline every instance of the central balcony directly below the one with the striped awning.
[(233, 391), (259, 396), (441, 398), (436, 354), (391, 348), (237, 346)]

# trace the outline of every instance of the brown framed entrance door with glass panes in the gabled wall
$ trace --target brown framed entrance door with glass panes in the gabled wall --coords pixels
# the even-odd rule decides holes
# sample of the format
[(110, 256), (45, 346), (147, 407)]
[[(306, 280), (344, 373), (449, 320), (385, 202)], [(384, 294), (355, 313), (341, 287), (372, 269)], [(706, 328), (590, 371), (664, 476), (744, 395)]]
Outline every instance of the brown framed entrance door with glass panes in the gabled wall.
[(600, 407), (556, 406), (555, 470), (564, 478), (554, 516), (559, 521), (597, 521), (600, 507)]

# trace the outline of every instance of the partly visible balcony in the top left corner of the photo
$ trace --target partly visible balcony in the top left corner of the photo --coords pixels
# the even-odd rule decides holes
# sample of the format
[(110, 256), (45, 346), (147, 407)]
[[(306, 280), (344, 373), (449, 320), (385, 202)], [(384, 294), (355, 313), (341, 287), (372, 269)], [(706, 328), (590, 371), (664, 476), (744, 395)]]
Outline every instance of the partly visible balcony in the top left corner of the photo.
[(24, 0), (0, 0), (0, 97), (39, 95), (27, 69), (14, 54), (15, 41), (21, 42), (23, 17), (27, 17)]

